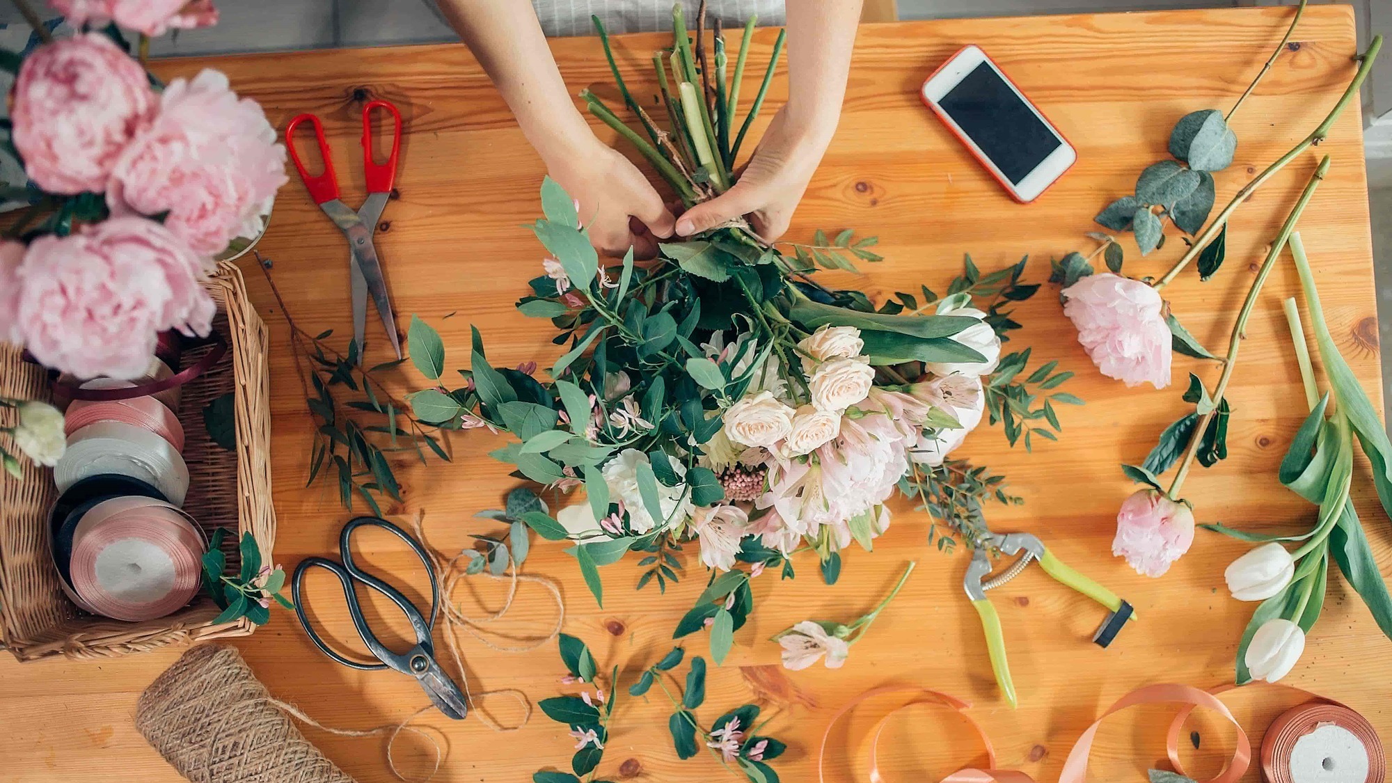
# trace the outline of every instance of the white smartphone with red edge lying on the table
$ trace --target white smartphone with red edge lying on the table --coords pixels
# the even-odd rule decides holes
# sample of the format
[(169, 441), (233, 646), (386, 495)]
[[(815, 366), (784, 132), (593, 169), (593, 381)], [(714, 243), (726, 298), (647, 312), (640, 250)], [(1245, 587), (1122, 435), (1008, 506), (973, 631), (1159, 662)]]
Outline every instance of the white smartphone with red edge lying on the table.
[(1077, 160), (1063, 134), (979, 46), (923, 82), (923, 102), (1019, 202), (1038, 198)]

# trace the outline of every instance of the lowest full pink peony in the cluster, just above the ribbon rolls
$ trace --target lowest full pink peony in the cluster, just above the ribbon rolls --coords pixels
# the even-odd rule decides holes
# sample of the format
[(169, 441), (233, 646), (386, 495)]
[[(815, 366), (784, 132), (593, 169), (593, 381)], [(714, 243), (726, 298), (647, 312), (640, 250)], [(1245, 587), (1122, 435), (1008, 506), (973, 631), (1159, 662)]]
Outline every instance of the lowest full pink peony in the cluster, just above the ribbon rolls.
[(207, 334), (207, 262), (143, 217), (40, 237), (18, 270), (17, 330), (46, 366), (79, 378), (136, 378), (166, 329)]

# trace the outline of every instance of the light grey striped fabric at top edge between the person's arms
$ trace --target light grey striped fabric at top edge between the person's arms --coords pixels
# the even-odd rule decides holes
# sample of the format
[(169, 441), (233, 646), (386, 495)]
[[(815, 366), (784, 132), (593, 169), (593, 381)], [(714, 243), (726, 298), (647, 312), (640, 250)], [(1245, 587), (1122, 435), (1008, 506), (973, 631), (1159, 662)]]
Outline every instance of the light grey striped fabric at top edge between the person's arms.
[[(699, 0), (681, 0), (688, 25), (695, 28)], [(532, 0), (541, 29), (548, 36), (592, 35), (590, 14), (599, 15), (611, 33), (653, 32), (672, 28), (670, 0)], [(760, 25), (784, 24), (784, 0), (707, 0), (706, 21), (720, 18), (727, 29), (745, 26), (752, 15)]]

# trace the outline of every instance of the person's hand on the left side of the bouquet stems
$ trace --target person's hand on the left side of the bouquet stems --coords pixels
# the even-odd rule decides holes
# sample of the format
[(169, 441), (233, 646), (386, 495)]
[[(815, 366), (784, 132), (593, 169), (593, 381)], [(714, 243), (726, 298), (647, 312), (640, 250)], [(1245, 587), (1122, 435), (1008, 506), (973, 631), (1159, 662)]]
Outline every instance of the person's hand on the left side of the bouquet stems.
[(653, 185), (626, 157), (593, 135), (550, 156), (551, 178), (580, 202), (580, 223), (603, 254), (639, 259), (657, 255), (657, 240), (672, 235), (674, 217)]

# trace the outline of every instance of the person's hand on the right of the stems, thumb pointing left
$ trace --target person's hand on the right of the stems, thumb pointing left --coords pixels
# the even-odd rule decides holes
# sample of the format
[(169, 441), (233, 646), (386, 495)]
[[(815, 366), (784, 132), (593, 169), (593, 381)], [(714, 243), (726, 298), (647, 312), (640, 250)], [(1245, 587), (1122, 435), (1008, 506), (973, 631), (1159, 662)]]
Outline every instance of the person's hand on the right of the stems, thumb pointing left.
[(820, 131), (818, 124), (789, 120), (788, 109), (784, 106), (774, 114), (738, 181), (677, 220), (678, 235), (690, 237), (745, 215), (764, 241), (771, 242), (788, 230), (831, 142), (831, 134)]

